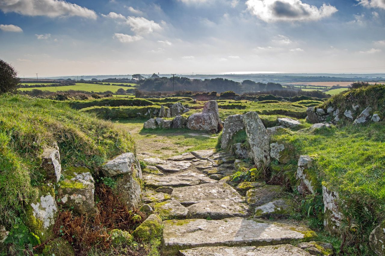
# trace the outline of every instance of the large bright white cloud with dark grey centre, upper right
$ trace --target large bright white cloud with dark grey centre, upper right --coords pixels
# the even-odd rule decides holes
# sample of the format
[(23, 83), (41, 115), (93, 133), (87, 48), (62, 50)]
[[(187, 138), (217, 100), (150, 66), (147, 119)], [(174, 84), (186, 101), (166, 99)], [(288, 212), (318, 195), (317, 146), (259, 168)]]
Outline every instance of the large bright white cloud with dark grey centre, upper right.
[(320, 7), (301, 0), (248, 0), (248, 10), (263, 21), (310, 21), (330, 17), (337, 8), (325, 3)]

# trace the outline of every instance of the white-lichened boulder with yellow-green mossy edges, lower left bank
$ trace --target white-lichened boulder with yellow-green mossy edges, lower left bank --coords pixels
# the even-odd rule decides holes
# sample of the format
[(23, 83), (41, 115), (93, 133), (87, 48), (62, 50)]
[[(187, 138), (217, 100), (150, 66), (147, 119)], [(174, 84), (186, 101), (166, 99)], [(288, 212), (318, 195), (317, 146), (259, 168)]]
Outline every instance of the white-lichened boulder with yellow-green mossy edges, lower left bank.
[(53, 228), (59, 214), (53, 185), (37, 189), (37, 195), (26, 207), (26, 224), (42, 242), (54, 237)]

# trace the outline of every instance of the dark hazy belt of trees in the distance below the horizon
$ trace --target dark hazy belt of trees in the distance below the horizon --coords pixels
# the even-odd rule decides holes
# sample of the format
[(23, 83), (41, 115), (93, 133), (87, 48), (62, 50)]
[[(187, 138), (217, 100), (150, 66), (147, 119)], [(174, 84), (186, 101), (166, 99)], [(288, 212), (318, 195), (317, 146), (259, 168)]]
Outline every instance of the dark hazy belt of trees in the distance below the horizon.
[[(281, 84), (276, 83), (256, 83), (251, 80), (244, 80), (242, 83), (224, 78), (213, 79), (189, 79), (186, 77), (176, 76), (173, 78), (147, 78), (138, 81), (138, 89), (142, 91), (234, 91), (242, 92), (258, 92), (271, 90), (287, 90)], [(296, 90), (296, 89), (294, 89)]]

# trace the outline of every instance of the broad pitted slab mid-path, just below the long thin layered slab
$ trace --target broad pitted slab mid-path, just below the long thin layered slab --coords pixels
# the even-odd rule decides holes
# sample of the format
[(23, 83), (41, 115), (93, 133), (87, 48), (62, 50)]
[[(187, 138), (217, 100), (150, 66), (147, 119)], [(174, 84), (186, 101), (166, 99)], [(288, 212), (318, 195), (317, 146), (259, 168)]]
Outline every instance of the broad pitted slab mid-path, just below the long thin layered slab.
[(208, 200), (243, 201), (241, 195), (226, 183), (206, 183), (190, 187), (174, 188), (171, 197), (182, 205), (193, 205)]

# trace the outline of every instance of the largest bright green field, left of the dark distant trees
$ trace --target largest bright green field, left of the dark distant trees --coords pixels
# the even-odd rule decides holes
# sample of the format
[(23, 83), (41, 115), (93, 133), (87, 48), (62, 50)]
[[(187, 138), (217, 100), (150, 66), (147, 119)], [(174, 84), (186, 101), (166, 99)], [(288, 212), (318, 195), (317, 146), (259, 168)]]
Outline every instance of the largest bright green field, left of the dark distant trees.
[(117, 85), (99, 85), (99, 84), (76, 83), (76, 85), (69, 85), (69, 86), (32, 87), (32, 88), (20, 88), (19, 90), (20, 91), (32, 91), (33, 89), (38, 89), (38, 90), (50, 91), (50, 92), (69, 91), (69, 90), (89, 91), (89, 92), (91, 92), (91, 91), (94, 91), (94, 92), (105, 92), (105, 91), (116, 92), (120, 88), (123, 88), (125, 90), (135, 89), (134, 87), (125, 87), (125, 86), (117, 86)]

